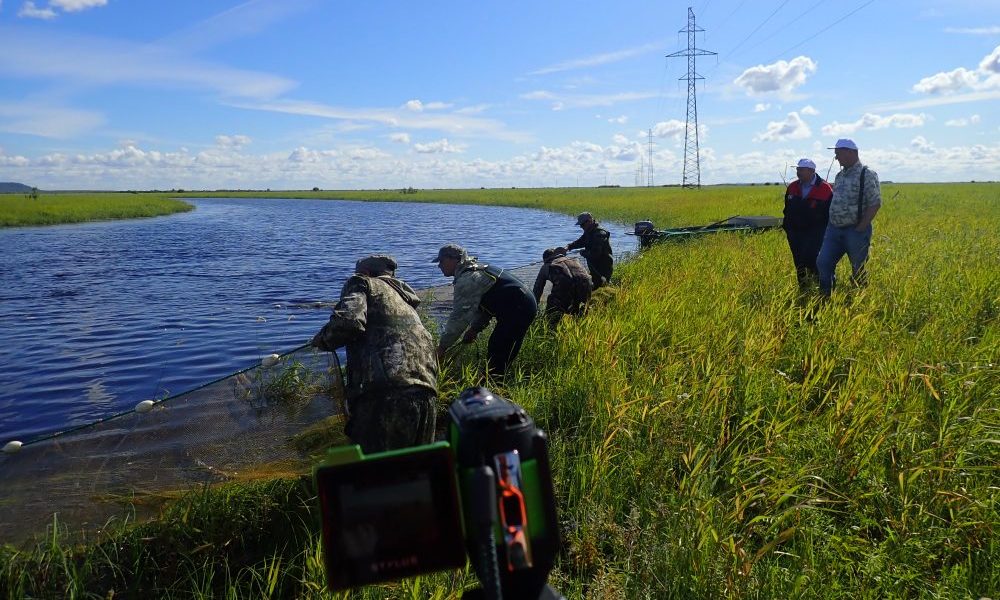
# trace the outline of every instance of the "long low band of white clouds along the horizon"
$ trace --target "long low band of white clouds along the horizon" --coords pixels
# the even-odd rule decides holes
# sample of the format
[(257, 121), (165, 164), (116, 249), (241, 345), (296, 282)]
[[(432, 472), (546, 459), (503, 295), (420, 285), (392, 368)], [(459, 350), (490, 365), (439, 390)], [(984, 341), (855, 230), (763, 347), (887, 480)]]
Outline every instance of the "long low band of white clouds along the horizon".
[[(992, 127), (991, 127), (992, 129)], [(645, 134), (643, 134), (645, 135)], [(0, 166), (14, 181), (42, 189), (358, 189), (385, 187), (509, 187), (524, 185), (632, 185), (639, 143), (601, 146), (575, 141), (502, 160), (464, 159), (459, 154), (390, 154), (368, 146), (299, 146), (282, 152), (249, 154), (209, 148), (192, 153), (123, 144), (91, 154), (53, 153), (37, 157), (0, 153)], [(894, 181), (968, 181), (1000, 172), (1000, 143), (937, 148), (915, 138), (898, 148), (865, 146), (865, 164)], [(703, 183), (775, 181), (784, 157), (801, 149), (778, 145), (742, 154), (703, 146)], [(934, 164), (933, 170), (927, 165)], [(676, 151), (657, 148), (656, 183), (680, 183)]]

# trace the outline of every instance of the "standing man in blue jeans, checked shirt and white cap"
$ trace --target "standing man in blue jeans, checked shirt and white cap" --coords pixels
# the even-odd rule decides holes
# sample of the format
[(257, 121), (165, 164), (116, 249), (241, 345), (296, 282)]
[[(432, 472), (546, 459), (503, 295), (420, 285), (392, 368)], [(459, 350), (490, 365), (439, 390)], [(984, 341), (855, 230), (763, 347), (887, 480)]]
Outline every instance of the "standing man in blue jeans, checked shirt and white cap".
[(872, 220), (882, 206), (878, 174), (858, 159), (858, 145), (846, 138), (837, 140), (834, 157), (841, 170), (833, 182), (830, 222), (823, 234), (823, 246), (816, 258), (819, 289), (824, 296), (833, 291), (834, 273), (844, 254), (851, 261), (851, 279), (865, 283), (865, 261), (872, 241)]

